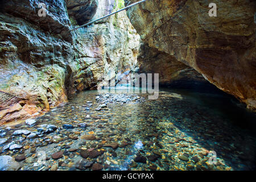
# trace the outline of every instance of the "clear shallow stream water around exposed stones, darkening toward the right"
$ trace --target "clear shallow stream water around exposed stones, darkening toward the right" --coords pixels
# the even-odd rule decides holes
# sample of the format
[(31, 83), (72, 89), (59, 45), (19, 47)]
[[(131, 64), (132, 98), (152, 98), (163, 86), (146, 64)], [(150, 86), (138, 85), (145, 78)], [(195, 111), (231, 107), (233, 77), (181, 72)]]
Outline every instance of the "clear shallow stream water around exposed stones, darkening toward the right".
[[(61, 159), (49, 159), (43, 166), (35, 165), (37, 158), (30, 150), (7, 151), (0, 155), (16, 156), (23, 153), (27, 158), (32, 158), (31, 163), (25, 160), (20, 162), (24, 170), (47, 170), (56, 161), (61, 162), (59, 170), (74, 170), (76, 163), (82, 159), (80, 149), (90, 148), (104, 151), (95, 159), (88, 158), (93, 163), (105, 166), (104, 170), (255, 169), (255, 114), (243, 109), (225, 94), (161, 89), (158, 100), (147, 100), (146, 94), (131, 94), (145, 99), (123, 105), (119, 102), (107, 103), (108, 107), (96, 111), (100, 105), (95, 99), (97, 94), (97, 91), (76, 94), (69, 98), (67, 104), (36, 118), (35, 126), (18, 125), (5, 137), (9, 137), (9, 142), (14, 140), (22, 146), (36, 145), (36, 151), (45, 151), (49, 157), (54, 152), (64, 151), (61, 147), (65, 144), (78, 149), (76, 152), (70, 152), (71, 155)], [(87, 101), (92, 101), (89, 110), (82, 107)], [(88, 126), (85, 129), (60, 129), (63, 124), (77, 126), (79, 123), (87, 123)], [(60, 130), (35, 139), (21, 140), (11, 136), (14, 130), (35, 131), (42, 124), (56, 125)], [(79, 139), (69, 138), (71, 134)], [(85, 134), (92, 134), (97, 139), (81, 139), (81, 135)], [(63, 140), (46, 143), (46, 140), (58, 137)], [(123, 141), (130, 144), (121, 146)], [(104, 147), (104, 142), (118, 143), (119, 147)], [(209, 163), (209, 159), (213, 159), (208, 155), (210, 151), (216, 152), (216, 164)], [(138, 154), (146, 158), (155, 155), (158, 159), (155, 162), (147, 159), (146, 163), (135, 163)], [(181, 155), (187, 159), (181, 160)]]

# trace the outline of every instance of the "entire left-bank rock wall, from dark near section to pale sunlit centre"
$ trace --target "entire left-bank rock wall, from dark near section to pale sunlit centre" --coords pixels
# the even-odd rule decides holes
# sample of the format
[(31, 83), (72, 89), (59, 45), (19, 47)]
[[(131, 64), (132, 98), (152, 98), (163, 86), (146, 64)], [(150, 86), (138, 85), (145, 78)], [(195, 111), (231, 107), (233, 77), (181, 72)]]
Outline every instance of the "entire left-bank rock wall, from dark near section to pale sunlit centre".
[[(46, 4), (45, 17), (38, 16), (39, 3)], [(125, 12), (70, 31), (114, 11), (114, 3), (0, 2), (0, 125), (38, 115), (67, 101), (68, 94), (93, 88), (109, 69), (133, 68), (139, 35)]]

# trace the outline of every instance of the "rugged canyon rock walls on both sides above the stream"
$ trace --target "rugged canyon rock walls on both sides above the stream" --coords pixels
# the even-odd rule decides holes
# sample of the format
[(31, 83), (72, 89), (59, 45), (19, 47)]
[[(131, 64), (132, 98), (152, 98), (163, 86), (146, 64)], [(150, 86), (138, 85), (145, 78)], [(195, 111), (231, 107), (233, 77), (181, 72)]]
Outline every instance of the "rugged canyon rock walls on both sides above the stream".
[(0, 125), (126, 71), (159, 73), (163, 85), (206, 79), (255, 109), (255, 1), (215, 1), (217, 17), (209, 3), (148, 0), (127, 11), (130, 20), (123, 11), (71, 31), (118, 1), (0, 1)]

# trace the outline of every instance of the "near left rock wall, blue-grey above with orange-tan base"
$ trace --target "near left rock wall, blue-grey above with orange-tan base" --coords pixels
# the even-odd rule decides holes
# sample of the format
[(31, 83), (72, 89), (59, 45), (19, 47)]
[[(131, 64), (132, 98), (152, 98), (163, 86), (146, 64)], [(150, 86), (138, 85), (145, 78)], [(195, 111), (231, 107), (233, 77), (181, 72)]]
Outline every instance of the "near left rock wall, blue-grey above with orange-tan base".
[(38, 1), (1, 2), (0, 123), (67, 101), (65, 75), (73, 57), (69, 20), (62, 1), (47, 2), (46, 17), (35, 11)]

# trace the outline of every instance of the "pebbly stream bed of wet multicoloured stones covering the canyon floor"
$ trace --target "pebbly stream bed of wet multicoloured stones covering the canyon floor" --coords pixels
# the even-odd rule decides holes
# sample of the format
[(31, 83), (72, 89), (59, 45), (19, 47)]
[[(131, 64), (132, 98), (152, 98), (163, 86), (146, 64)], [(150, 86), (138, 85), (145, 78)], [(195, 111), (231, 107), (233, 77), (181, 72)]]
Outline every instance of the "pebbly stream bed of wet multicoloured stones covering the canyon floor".
[[(36, 118), (34, 126), (2, 127), (6, 142), (0, 144), (0, 157), (9, 155), (20, 170), (254, 169), (254, 135), (213, 107), (212, 100), (224, 98), (196, 96), (162, 90), (158, 100), (147, 100), (146, 94), (82, 92)], [(103, 103), (107, 107), (94, 110)], [(88, 104), (90, 110), (84, 107)], [(211, 151), (216, 151), (216, 164), (209, 161)]]

